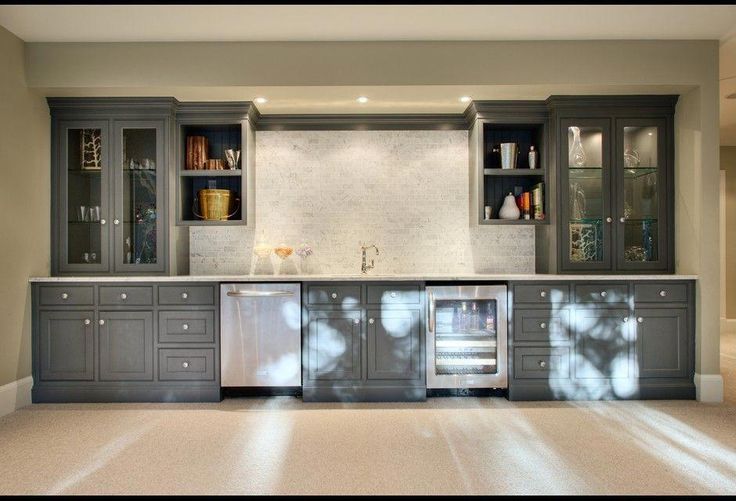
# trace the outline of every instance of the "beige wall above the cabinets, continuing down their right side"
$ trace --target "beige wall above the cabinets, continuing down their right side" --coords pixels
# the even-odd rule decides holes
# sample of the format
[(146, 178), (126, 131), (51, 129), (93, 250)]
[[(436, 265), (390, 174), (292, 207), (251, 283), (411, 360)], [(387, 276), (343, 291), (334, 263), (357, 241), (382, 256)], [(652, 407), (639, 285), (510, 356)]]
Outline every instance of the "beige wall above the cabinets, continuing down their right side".
[(26, 56), (29, 84), (56, 95), (258, 85), (685, 88), (676, 116), (676, 270), (700, 276), (696, 371), (718, 375), (718, 49), (717, 41), (40, 43)]

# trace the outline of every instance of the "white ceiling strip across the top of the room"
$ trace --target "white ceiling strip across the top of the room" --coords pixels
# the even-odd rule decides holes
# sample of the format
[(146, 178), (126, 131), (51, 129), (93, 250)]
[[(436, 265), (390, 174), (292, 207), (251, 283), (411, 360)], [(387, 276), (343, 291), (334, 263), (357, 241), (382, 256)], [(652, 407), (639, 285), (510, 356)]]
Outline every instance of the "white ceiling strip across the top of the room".
[(724, 40), (732, 5), (3, 5), (27, 42)]

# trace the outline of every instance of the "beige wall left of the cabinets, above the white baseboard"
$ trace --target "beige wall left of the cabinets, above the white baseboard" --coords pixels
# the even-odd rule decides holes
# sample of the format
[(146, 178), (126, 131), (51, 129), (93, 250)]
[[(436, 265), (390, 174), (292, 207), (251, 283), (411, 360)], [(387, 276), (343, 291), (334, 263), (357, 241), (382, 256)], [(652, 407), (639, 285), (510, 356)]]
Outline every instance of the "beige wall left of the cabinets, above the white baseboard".
[(28, 277), (49, 272), (49, 116), (0, 27), (0, 386), (31, 375)]

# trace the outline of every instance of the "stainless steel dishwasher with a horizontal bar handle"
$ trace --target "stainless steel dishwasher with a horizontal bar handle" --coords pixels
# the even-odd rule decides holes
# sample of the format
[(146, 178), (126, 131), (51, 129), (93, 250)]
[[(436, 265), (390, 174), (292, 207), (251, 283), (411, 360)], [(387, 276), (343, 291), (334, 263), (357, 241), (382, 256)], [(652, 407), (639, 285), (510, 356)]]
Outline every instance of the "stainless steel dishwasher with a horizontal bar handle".
[(300, 284), (221, 284), (222, 386), (301, 386), (301, 325)]

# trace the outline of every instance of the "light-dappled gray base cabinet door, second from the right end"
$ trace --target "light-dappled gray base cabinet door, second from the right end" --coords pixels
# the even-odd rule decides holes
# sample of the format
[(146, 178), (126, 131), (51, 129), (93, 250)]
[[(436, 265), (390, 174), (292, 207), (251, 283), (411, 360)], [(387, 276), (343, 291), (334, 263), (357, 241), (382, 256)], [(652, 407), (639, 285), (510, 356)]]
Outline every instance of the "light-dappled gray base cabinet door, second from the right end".
[(634, 342), (626, 309), (575, 311), (575, 378), (631, 378)]

